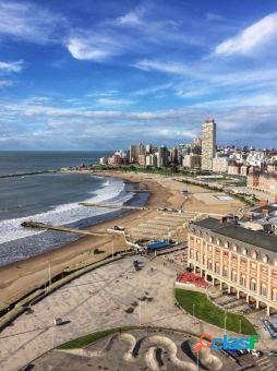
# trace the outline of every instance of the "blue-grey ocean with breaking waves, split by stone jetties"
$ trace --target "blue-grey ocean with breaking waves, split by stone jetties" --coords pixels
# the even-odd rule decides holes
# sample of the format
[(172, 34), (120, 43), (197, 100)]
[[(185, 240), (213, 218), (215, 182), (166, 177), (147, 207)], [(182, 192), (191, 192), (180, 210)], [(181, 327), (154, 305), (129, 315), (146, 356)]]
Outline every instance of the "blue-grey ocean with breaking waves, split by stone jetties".
[[(0, 152), (0, 175), (98, 163), (109, 152)], [(83, 201), (142, 205), (147, 193), (127, 192), (121, 179), (80, 173), (39, 173), (0, 178), (0, 265), (27, 259), (76, 240), (58, 231), (21, 227), (24, 220), (86, 228), (128, 211), (84, 207)]]

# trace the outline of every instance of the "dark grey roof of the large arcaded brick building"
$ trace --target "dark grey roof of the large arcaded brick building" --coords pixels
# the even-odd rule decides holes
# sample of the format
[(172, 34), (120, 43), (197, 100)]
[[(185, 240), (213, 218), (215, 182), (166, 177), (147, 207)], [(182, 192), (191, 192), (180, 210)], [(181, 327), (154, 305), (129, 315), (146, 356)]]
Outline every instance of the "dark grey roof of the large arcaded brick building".
[(240, 242), (249, 243), (257, 248), (263, 248), (277, 252), (277, 236), (267, 235), (262, 231), (250, 230), (233, 223), (220, 223), (220, 220), (208, 217), (192, 224), (209, 229), (217, 235), (229, 237)]

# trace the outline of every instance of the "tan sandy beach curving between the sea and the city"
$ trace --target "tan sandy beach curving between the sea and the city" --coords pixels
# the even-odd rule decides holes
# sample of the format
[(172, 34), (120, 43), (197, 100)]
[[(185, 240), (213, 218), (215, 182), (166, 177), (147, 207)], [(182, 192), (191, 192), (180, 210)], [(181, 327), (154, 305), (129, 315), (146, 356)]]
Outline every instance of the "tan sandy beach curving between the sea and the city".
[[(230, 213), (242, 207), (238, 200), (222, 202), (215, 198), (214, 193), (200, 187), (188, 185), (190, 196), (186, 199), (180, 193), (184, 184), (169, 178), (146, 175), (146, 173), (120, 173), (109, 171), (99, 173), (101, 176), (119, 177), (131, 182), (144, 184), (149, 190), (147, 206), (152, 207), (173, 207), (186, 211), (207, 213)], [(130, 229), (142, 222), (150, 219), (157, 215), (156, 211), (135, 211), (128, 215), (105, 222), (93, 227), (92, 231), (106, 231), (115, 224), (122, 225)], [(184, 231), (185, 235), (185, 231)], [(125, 250), (127, 246), (122, 237), (83, 237), (77, 241), (68, 243), (50, 252), (37, 255), (25, 261), (9, 264), (0, 268), (0, 307), (7, 307), (32, 289), (41, 286), (49, 277), (49, 262), (51, 275), (62, 272), (67, 267), (76, 267), (82, 262), (89, 260), (96, 262), (109, 255), (115, 243), (115, 252)], [(92, 255), (88, 250), (98, 247), (104, 253)]]

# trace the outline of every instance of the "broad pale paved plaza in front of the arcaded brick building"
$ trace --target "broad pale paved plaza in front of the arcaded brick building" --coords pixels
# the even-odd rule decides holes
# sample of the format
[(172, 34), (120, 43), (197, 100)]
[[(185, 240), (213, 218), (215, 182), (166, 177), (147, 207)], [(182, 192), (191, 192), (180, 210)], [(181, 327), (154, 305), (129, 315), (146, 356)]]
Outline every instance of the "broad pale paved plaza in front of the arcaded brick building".
[[(144, 263), (135, 271), (133, 261)], [(0, 335), (0, 369), (16, 370), (49, 349), (104, 328), (152, 325), (222, 335), (174, 306), (170, 264), (132, 256), (92, 271), (48, 296)], [(53, 326), (53, 319), (68, 321)]]

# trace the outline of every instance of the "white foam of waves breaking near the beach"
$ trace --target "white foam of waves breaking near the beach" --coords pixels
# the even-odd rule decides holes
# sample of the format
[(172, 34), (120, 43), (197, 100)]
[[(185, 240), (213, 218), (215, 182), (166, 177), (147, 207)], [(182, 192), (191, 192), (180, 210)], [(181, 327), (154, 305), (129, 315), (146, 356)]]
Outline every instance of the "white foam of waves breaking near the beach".
[[(132, 193), (120, 193), (124, 189), (124, 183), (118, 179), (108, 179), (103, 188), (92, 191), (93, 196), (84, 200), (86, 202), (104, 202), (110, 200), (109, 203), (123, 204), (132, 198)], [(110, 212), (107, 208), (84, 207), (79, 203), (68, 203), (58, 205), (53, 210), (29, 215), (26, 217), (8, 219), (0, 222), (0, 243), (17, 240), (24, 237), (41, 234), (40, 230), (21, 227), (24, 220), (37, 220), (51, 225), (67, 225), (92, 216), (97, 216)]]

